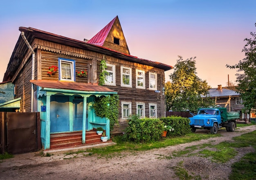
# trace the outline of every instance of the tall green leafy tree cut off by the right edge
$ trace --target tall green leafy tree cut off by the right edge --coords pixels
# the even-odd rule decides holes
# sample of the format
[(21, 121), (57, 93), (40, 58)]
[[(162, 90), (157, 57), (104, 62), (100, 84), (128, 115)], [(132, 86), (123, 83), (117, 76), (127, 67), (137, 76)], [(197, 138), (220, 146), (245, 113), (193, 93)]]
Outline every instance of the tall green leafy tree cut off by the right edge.
[(242, 50), (245, 52), (245, 58), (234, 66), (226, 65), (227, 68), (238, 69), (238, 72), (242, 72), (236, 74), (236, 82), (237, 92), (241, 94), (245, 110), (256, 108), (256, 33), (250, 34), (252, 38), (244, 40), (247, 42)]

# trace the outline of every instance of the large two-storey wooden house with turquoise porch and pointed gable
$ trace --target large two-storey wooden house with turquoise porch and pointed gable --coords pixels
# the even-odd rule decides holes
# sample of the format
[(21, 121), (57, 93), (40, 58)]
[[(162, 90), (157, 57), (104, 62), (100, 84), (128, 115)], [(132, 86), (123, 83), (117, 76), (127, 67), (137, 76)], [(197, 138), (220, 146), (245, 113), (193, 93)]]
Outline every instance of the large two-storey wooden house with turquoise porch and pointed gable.
[[(16, 87), (20, 111), (40, 112), (44, 149), (57, 132), (82, 132), (82, 143), (93, 127), (103, 127), (109, 135), (109, 120), (97, 117), (92, 108), (96, 97), (119, 95), (120, 125), (131, 114), (164, 116), (164, 71), (173, 67), (130, 55), (117, 16), (88, 42), (30, 27), (19, 30), (4, 81)], [(103, 86), (98, 85), (101, 60), (108, 72)], [(57, 71), (49, 75), (52, 66)], [(76, 75), (82, 70), (87, 77)]]

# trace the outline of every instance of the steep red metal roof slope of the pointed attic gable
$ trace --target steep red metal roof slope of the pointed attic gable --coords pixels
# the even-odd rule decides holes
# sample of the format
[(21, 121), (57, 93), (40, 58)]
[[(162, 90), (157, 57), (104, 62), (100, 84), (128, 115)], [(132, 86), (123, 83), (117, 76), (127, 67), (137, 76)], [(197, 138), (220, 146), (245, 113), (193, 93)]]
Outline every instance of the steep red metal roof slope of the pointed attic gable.
[(117, 16), (112, 21), (110, 21), (110, 23), (108, 23), (103, 29), (101, 29), (101, 31), (99, 31), (99, 33), (94, 35), (94, 37), (92, 37), (92, 39), (90, 39), (87, 43), (95, 44), (98, 46), (103, 46), (103, 44), (106, 40), (106, 37), (108, 36), (108, 33), (109, 33), (110, 29), (112, 28), (116, 18), (117, 18)]

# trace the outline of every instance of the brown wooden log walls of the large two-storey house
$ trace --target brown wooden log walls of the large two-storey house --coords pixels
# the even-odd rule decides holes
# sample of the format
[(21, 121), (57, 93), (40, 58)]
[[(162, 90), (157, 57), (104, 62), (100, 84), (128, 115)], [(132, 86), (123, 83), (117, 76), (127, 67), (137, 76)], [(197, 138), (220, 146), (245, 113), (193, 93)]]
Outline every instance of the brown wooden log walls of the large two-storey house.
[[(119, 94), (119, 125), (114, 127), (112, 134), (120, 134), (127, 127), (125, 119), (121, 119), (121, 101), (132, 103), (131, 114), (137, 114), (136, 103), (145, 103), (145, 116), (149, 117), (149, 103), (157, 104), (157, 117), (164, 116), (164, 96), (162, 95), (162, 87), (164, 87), (164, 70), (152, 66), (142, 65), (131, 61), (124, 61), (110, 55), (95, 53), (88, 50), (73, 48), (53, 42), (35, 39), (33, 45), (37, 47), (35, 79), (58, 80), (58, 72), (53, 75), (47, 75), (50, 66), (58, 66), (58, 57), (65, 59), (73, 59), (76, 62), (75, 70), (88, 70), (87, 78), (76, 77), (76, 82), (81, 83), (97, 83), (99, 81), (99, 66), (101, 59), (107, 59), (108, 63), (114, 64), (116, 67), (116, 86), (106, 86), (115, 90)], [(54, 48), (54, 49), (52, 49)], [(70, 52), (63, 54), (63, 51)], [(72, 54), (73, 53), (73, 54)], [(75, 53), (75, 54), (74, 54)], [(84, 57), (88, 58), (84, 58)], [(90, 65), (92, 64), (92, 66)], [(132, 68), (132, 88), (121, 87), (121, 66)], [(136, 88), (136, 69), (145, 71), (145, 89)], [(25, 74), (23, 74), (25, 72)], [(29, 73), (26, 73), (29, 72)], [(157, 90), (149, 90), (149, 72), (157, 73)], [(24, 76), (23, 76), (24, 75)], [(88, 80), (89, 79), (89, 80)], [(20, 72), (19, 78), (15, 84), (18, 85), (17, 97), (22, 97), (20, 109), (30, 111), (31, 105), (31, 58), (26, 66)], [(24, 87), (24, 91), (23, 91)], [(36, 90), (36, 87), (35, 87)], [(23, 93), (24, 92), (24, 93)]]

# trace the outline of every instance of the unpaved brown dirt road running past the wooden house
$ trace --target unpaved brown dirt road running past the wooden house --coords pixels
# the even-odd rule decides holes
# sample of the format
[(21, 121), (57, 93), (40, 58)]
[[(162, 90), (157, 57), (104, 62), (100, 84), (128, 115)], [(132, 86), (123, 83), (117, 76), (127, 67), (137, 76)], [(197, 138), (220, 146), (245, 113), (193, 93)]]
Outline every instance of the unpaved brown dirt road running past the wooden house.
[[(238, 155), (227, 163), (214, 163), (200, 156), (172, 156), (174, 152), (186, 147), (204, 143), (218, 144), (230, 141), (234, 136), (252, 132), (256, 126), (240, 127), (235, 132), (220, 130), (221, 137), (209, 138), (192, 143), (169, 146), (150, 151), (122, 152), (110, 158), (97, 155), (85, 156), (88, 153), (71, 155), (53, 155), (41, 157), (39, 153), (15, 155), (14, 158), (1, 160), (0, 179), (93, 179), (93, 180), (178, 180), (174, 169), (183, 161), (183, 168), (200, 175), (202, 179), (228, 179), (231, 165), (240, 160), (244, 154), (255, 151), (253, 147), (239, 148)], [(196, 133), (208, 133), (207, 130), (197, 130)], [(202, 149), (196, 149), (194, 154)], [(169, 157), (169, 158), (166, 158)]]

